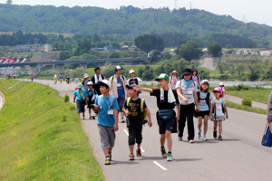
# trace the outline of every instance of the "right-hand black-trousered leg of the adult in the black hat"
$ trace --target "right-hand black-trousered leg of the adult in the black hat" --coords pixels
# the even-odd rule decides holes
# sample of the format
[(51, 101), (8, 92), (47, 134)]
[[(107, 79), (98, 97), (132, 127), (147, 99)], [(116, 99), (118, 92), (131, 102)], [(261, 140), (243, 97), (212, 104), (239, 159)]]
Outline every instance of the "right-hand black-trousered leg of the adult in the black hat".
[(190, 104), (187, 110), (188, 140), (193, 140), (195, 138), (195, 128), (193, 120), (194, 113), (194, 104)]

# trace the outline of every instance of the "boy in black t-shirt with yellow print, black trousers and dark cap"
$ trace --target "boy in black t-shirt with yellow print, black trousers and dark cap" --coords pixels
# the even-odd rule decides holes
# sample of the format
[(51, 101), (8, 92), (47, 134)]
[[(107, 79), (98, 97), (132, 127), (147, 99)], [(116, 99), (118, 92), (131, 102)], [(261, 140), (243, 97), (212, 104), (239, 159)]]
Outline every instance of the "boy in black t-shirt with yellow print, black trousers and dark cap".
[[(133, 88), (136, 86), (135, 83), (131, 85), (126, 85), (128, 89), (129, 98), (124, 101), (122, 110), (126, 113), (127, 116), (127, 127), (129, 129), (129, 148), (131, 154), (129, 155), (130, 160), (134, 160), (133, 149), (135, 145), (135, 140), (137, 143), (137, 157), (141, 157), (141, 141), (142, 141), (142, 124), (144, 121), (143, 109), (149, 118), (148, 125), (151, 127), (151, 112), (147, 108), (145, 104), (145, 100), (138, 98), (138, 90), (134, 90)], [(141, 108), (142, 106), (142, 108)]]

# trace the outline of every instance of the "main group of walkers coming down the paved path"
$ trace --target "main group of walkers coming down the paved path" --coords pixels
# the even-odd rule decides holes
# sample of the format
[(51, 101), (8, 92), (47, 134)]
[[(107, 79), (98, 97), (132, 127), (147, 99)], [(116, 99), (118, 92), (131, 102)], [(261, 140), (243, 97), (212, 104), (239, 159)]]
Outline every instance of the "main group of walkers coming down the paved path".
[[(222, 121), (228, 119), (228, 110), (223, 98), (224, 85), (212, 90), (212, 99), (209, 90), (209, 81), (200, 81), (198, 71), (185, 69), (179, 78), (178, 71), (172, 71), (171, 76), (161, 73), (155, 80), (159, 81), (160, 89), (143, 88), (139, 85), (141, 79), (135, 77), (135, 71), (130, 71), (130, 79), (126, 80), (121, 75), (122, 68), (116, 66), (114, 75), (109, 81), (104, 79), (100, 68), (95, 68), (92, 80), (88, 74), (84, 74), (84, 80), (74, 92), (77, 112), (83, 112), (84, 105), (88, 105), (90, 119), (91, 109), (98, 113), (97, 124), (102, 141), (102, 149), (106, 157), (105, 165), (110, 165), (112, 160), (112, 148), (115, 142), (115, 131), (118, 128), (118, 115), (121, 114), (121, 122), (127, 123), (129, 130), (129, 159), (134, 159), (134, 145), (137, 144), (136, 156), (141, 157), (142, 125), (151, 127), (151, 112), (145, 100), (139, 97), (141, 91), (150, 92), (156, 97), (158, 111), (156, 113), (160, 132), (161, 156), (167, 161), (173, 160), (171, 133), (178, 133), (178, 140), (183, 140), (183, 131), (187, 121), (188, 141), (194, 143), (195, 131), (193, 117), (197, 117), (198, 138), (202, 134), (202, 120), (204, 119), (203, 140), (207, 141), (208, 119), (214, 122), (213, 137), (222, 140)], [(87, 85), (87, 86), (84, 86)], [(92, 92), (92, 93), (90, 93)], [(177, 112), (176, 112), (177, 111)], [(126, 119), (125, 116), (126, 115)], [(218, 130), (219, 127), (219, 137)], [(166, 148), (165, 148), (166, 143)]]

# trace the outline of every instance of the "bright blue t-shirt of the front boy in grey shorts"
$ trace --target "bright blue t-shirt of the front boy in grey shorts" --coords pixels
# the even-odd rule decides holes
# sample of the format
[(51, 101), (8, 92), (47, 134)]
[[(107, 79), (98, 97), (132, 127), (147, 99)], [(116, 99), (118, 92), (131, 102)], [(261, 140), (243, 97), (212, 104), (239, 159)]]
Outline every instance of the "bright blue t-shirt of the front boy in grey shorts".
[[(98, 113), (97, 124), (104, 127), (113, 127), (115, 124), (114, 114), (108, 114), (109, 107), (111, 107), (111, 99), (113, 98), (113, 108), (111, 110), (119, 110), (118, 102), (116, 98), (112, 95), (109, 97), (103, 97), (103, 95), (98, 96), (94, 100), (94, 104), (98, 105), (98, 99), (100, 98), (100, 107)], [(112, 97), (112, 98), (111, 98)]]

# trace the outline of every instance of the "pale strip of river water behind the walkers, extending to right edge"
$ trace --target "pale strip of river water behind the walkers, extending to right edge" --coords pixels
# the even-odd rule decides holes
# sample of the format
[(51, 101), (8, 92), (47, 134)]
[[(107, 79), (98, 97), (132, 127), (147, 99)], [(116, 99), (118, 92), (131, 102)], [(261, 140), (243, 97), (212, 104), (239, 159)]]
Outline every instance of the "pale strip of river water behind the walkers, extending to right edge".
[[(210, 86), (219, 86), (220, 81), (209, 81)], [(272, 81), (223, 81), (225, 86), (233, 86), (233, 85), (239, 85), (239, 84), (244, 84), (248, 86), (263, 86), (265, 88), (272, 88), (271, 84)], [(158, 84), (158, 81), (142, 81), (141, 84)], [(269, 85), (267, 85), (269, 84)]]

